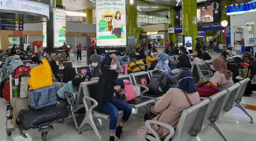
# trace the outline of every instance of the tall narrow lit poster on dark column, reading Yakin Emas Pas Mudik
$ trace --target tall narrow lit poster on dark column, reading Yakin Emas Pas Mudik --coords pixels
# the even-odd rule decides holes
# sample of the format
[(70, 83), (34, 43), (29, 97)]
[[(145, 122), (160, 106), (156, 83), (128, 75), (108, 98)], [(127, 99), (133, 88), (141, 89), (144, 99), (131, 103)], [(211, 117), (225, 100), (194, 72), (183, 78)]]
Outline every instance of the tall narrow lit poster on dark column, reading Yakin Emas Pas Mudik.
[(66, 42), (66, 14), (65, 10), (56, 9), (54, 12), (54, 48), (59, 48)]

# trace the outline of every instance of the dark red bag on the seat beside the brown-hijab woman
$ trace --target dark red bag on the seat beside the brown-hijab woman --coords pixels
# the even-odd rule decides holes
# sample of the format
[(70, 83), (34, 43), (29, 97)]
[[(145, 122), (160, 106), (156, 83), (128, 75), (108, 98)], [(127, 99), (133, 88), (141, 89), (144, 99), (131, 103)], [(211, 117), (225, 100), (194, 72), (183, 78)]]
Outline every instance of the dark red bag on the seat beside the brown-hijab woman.
[[(210, 83), (210, 86), (205, 86), (208, 85), (208, 83)], [(197, 92), (199, 93), (200, 97), (210, 97), (215, 93), (220, 92), (220, 89), (214, 87), (210, 81), (206, 81), (204, 83), (199, 83), (199, 85), (197, 85)]]

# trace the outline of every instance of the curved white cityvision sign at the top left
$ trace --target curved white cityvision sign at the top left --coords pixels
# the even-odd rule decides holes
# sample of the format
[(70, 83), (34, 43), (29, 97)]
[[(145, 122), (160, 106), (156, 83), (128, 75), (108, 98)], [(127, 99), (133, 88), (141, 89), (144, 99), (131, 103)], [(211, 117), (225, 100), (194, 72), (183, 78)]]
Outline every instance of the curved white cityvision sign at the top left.
[(31, 12), (47, 16), (49, 19), (49, 8), (40, 5), (39, 2), (19, 1), (19, 0), (1, 0), (0, 10), (13, 10), (22, 12)]

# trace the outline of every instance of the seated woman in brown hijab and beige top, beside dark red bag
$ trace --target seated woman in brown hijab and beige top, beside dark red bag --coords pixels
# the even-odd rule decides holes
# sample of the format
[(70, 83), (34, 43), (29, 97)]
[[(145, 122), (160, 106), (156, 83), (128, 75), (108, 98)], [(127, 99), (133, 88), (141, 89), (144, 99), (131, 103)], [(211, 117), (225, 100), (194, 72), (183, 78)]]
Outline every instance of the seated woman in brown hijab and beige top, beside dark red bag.
[(209, 81), (215, 82), (221, 91), (234, 84), (232, 80), (232, 73), (231, 71), (227, 70), (227, 64), (223, 61), (223, 59), (215, 58), (213, 60), (212, 69), (216, 72)]

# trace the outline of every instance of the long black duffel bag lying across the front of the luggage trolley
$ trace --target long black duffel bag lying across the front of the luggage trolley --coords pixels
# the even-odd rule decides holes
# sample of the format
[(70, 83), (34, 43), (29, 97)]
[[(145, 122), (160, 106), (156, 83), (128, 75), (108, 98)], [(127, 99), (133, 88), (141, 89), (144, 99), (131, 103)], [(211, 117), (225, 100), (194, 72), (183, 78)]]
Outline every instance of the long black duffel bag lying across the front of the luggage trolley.
[(19, 111), (17, 126), (19, 130), (29, 130), (38, 128), (41, 124), (51, 123), (68, 116), (69, 112), (66, 104), (60, 101), (59, 105), (52, 105), (43, 109)]

